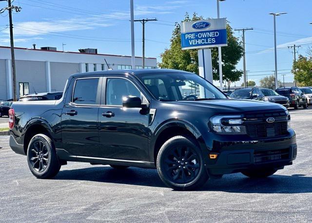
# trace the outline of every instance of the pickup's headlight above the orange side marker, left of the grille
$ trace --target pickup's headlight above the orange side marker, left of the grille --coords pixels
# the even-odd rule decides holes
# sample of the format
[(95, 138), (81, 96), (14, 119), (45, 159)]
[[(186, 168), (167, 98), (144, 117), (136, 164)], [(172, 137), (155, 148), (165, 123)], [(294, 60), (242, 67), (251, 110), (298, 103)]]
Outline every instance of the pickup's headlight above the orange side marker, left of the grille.
[(244, 120), (239, 115), (217, 115), (210, 118), (210, 128), (218, 134), (246, 134)]

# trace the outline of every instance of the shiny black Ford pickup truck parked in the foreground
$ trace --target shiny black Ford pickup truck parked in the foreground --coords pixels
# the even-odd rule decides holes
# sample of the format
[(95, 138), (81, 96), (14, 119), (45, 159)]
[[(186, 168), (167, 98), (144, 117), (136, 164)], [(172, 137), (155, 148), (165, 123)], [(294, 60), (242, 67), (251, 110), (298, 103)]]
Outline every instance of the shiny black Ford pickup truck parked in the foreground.
[(157, 168), (167, 186), (190, 190), (228, 173), (268, 177), (297, 153), (283, 106), (230, 99), (176, 70), (73, 74), (59, 100), (14, 102), (9, 126), (37, 178), (78, 161)]

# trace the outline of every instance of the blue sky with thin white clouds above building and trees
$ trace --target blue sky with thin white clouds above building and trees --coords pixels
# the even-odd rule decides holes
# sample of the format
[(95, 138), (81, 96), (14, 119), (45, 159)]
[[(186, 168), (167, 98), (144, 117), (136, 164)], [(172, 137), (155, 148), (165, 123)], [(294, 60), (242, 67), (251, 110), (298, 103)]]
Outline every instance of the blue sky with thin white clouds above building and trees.
[[(0, 8), (6, 1), (0, 2)], [(97, 48), (101, 54), (131, 55), (130, 0), (14, 0), (21, 12), (13, 14), (16, 47), (57, 47), (78, 52)], [(135, 19), (158, 19), (145, 25), (145, 56), (156, 57), (170, 47), (175, 22), (186, 12), (204, 18), (216, 18), (216, 0), (134, 0)], [(312, 0), (226, 0), (220, 2), (220, 17), (234, 29), (246, 31), (246, 67), (248, 79), (259, 80), (274, 70), (273, 16), (276, 17), (278, 79), (292, 82), (293, 49), (306, 56), (312, 46)], [(7, 12), (0, 14), (0, 46), (9, 46)], [(235, 31), (241, 39), (242, 33)], [(142, 25), (135, 23), (136, 56), (142, 56)], [(237, 64), (242, 70), (242, 60)], [(232, 83), (240, 86), (241, 81)]]

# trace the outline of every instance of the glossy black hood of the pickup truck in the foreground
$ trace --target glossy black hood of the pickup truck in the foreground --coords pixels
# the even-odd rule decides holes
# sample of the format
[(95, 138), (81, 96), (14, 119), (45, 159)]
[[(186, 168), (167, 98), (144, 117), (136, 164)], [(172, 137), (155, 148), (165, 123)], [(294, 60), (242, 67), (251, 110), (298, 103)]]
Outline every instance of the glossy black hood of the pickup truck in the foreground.
[(286, 111), (286, 109), (279, 104), (255, 101), (255, 100), (245, 100), (245, 99), (224, 99), (224, 100), (207, 100), (207, 101), (174, 101), (169, 102), (171, 104), (179, 105), (189, 105), (195, 110), (200, 108), (210, 108), (216, 109), (218, 112), (246, 112), (246, 111)]

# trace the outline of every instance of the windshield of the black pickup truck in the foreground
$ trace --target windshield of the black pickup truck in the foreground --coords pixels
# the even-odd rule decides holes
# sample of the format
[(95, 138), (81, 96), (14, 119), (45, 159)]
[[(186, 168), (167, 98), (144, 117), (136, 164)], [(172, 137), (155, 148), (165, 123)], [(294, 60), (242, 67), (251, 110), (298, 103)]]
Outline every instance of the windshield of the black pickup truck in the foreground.
[(215, 86), (197, 74), (137, 74), (137, 77), (160, 101), (227, 99)]

